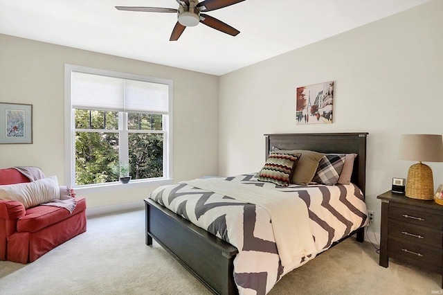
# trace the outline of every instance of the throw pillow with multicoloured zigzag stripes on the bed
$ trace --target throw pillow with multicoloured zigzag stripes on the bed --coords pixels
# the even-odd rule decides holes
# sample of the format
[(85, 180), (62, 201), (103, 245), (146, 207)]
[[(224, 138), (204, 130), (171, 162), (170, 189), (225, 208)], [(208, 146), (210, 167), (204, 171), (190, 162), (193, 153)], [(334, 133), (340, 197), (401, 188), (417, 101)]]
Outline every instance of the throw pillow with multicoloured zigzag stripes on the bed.
[(279, 186), (289, 186), (293, 166), (296, 165), (301, 154), (283, 154), (271, 152), (264, 167), (257, 175), (260, 181), (272, 182)]

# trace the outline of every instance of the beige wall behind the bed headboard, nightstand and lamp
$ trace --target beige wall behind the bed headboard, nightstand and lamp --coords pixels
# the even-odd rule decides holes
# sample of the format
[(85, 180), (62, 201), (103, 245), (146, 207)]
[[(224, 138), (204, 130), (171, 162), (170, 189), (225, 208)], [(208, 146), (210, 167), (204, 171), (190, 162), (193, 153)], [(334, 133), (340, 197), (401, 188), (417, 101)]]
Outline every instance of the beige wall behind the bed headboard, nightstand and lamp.
[[(406, 178), (400, 134), (443, 133), (443, 1), (350, 30), (220, 78), (219, 174), (257, 171), (266, 133), (369, 132), (367, 204)], [(296, 88), (335, 81), (334, 123), (296, 125)], [(428, 163), (443, 184), (443, 163)], [(435, 188), (436, 189), (436, 188)]]

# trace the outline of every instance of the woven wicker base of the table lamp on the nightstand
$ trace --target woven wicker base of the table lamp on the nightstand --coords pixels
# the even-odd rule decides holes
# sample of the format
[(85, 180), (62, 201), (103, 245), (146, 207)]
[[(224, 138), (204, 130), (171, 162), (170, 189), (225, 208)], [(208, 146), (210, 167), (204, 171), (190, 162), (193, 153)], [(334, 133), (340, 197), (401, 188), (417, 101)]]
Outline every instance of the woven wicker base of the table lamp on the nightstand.
[(434, 179), (429, 166), (422, 162), (410, 166), (405, 195), (412, 199), (434, 199)]

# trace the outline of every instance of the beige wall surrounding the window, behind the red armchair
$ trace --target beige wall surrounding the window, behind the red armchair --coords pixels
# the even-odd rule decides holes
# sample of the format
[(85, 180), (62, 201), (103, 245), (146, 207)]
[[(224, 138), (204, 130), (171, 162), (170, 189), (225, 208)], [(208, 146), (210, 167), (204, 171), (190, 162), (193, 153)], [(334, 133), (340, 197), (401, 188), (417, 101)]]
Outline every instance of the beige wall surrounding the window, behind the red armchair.
[[(64, 64), (173, 80), (174, 178), (181, 181), (217, 174), (217, 76), (8, 35), (0, 35), (0, 102), (33, 105), (33, 144), (0, 145), (0, 168), (38, 166), (63, 184)], [(152, 189), (85, 197), (91, 208), (141, 200)]]

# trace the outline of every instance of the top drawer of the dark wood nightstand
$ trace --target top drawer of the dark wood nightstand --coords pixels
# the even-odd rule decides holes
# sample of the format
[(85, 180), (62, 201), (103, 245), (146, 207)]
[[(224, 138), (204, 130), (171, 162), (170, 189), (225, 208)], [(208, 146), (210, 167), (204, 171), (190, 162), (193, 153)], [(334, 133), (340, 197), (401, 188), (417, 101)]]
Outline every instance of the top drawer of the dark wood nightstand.
[(417, 224), (419, 226), (426, 226), (431, 229), (443, 229), (443, 218), (441, 215), (415, 211), (401, 205), (397, 206), (397, 204), (389, 206), (389, 218), (410, 224)]

